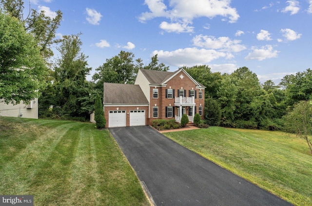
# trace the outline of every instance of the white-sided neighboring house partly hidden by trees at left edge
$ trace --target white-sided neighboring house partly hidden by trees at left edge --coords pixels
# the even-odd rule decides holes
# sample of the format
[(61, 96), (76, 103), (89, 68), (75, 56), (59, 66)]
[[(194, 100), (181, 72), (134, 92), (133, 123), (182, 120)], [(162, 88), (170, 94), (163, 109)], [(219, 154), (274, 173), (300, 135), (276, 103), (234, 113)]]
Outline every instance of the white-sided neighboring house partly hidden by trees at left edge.
[(0, 116), (23, 117), (38, 119), (38, 98), (30, 101), (28, 105), (23, 101), (20, 104), (6, 104), (0, 100)]

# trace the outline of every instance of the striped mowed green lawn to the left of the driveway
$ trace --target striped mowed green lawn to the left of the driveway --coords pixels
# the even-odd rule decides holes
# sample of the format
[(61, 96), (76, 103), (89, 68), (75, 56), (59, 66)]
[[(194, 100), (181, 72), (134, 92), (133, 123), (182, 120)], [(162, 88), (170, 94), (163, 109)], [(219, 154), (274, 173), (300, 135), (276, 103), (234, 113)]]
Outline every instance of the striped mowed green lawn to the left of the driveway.
[(0, 194), (36, 206), (150, 205), (107, 130), (95, 124), (0, 117)]

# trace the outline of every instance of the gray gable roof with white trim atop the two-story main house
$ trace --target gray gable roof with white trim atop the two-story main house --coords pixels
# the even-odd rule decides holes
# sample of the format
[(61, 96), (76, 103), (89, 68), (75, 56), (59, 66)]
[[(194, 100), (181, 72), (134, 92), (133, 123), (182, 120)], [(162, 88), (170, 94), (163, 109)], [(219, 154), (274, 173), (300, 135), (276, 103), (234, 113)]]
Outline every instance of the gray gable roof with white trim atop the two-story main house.
[(147, 69), (140, 69), (143, 75), (147, 78), (150, 84), (165, 84), (171, 78), (173, 78), (177, 73), (183, 71), (188, 77), (196, 84), (196, 86), (205, 88), (204, 85), (196, 81), (191, 75), (189, 75), (183, 68), (178, 69), (175, 72), (163, 72), (157, 70), (147, 70)]

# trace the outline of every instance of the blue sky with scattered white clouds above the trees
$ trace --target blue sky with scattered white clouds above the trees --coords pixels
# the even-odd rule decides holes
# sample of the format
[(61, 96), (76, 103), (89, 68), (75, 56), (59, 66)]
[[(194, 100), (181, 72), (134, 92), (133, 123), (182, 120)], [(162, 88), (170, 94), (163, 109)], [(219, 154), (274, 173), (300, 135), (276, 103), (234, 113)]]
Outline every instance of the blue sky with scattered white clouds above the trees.
[[(278, 83), (312, 68), (312, 0), (30, 0), (53, 17), (58, 37), (82, 33), (82, 52), (95, 69), (121, 50), (144, 63), (207, 64), (232, 73), (246, 66), (261, 82)], [(27, 3), (25, 3), (25, 6)]]

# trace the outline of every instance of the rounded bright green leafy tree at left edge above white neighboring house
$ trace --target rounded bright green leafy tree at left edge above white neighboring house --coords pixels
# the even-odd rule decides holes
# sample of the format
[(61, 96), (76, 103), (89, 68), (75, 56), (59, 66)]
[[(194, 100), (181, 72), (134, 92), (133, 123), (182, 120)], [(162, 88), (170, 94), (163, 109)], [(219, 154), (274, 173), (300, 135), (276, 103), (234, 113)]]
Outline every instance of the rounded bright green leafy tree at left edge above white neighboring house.
[(37, 41), (19, 19), (0, 13), (0, 99), (28, 102), (45, 87), (47, 67)]

